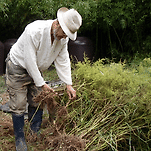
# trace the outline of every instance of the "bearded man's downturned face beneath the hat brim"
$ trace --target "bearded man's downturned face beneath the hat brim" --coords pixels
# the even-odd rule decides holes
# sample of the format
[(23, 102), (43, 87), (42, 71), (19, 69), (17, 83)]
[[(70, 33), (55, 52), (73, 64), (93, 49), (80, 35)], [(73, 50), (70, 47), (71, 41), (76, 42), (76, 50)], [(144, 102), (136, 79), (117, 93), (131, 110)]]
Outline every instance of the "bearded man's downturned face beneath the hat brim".
[(54, 35), (54, 38), (56, 40), (60, 40), (62, 38), (66, 38), (67, 37), (67, 35), (64, 33), (64, 31), (62, 30), (60, 25), (58, 26), (57, 29), (54, 29), (53, 35)]

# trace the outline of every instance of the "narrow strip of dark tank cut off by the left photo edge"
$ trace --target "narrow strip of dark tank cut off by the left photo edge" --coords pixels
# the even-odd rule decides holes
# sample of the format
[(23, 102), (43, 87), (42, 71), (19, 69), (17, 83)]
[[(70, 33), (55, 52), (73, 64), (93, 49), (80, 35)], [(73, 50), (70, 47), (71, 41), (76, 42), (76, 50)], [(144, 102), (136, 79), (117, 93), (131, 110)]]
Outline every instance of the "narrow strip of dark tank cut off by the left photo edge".
[(4, 71), (4, 44), (0, 41), (0, 75), (3, 75)]

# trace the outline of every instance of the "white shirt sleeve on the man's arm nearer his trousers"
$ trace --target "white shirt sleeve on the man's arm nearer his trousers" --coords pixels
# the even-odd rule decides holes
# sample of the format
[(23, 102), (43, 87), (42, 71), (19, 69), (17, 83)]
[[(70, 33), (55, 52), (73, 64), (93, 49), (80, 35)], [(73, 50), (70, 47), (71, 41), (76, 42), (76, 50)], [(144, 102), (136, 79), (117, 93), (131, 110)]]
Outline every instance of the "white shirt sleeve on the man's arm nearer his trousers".
[(33, 38), (33, 35), (30, 33), (30, 31), (27, 31), (24, 39), (25, 67), (28, 74), (34, 80), (35, 85), (37, 87), (40, 87), (44, 85), (45, 82), (37, 66), (36, 50), (37, 50), (38, 43), (39, 42), (36, 41), (36, 37)]

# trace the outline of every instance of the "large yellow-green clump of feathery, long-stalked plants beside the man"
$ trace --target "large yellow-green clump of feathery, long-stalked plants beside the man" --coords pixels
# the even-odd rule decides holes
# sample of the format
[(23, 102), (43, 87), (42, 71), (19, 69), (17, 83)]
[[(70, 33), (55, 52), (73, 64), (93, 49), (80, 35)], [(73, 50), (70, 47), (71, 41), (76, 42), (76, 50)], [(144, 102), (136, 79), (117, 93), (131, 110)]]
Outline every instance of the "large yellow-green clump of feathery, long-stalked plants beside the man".
[(121, 62), (86, 59), (77, 64), (78, 97), (69, 105), (77, 125), (69, 134), (88, 140), (86, 150), (151, 149), (150, 63), (144, 59), (127, 68)]

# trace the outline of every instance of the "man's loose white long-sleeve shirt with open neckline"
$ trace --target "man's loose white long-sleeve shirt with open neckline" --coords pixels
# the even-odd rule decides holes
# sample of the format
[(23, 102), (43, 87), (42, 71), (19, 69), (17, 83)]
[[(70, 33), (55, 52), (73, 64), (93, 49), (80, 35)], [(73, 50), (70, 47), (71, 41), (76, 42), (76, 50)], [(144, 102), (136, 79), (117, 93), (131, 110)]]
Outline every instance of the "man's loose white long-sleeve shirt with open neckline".
[(25, 28), (10, 50), (10, 59), (27, 70), (36, 86), (45, 84), (41, 72), (54, 62), (59, 78), (72, 85), (70, 58), (67, 50), (69, 38), (51, 43), (54, 20), (37, 20)]

